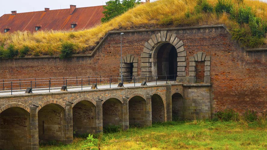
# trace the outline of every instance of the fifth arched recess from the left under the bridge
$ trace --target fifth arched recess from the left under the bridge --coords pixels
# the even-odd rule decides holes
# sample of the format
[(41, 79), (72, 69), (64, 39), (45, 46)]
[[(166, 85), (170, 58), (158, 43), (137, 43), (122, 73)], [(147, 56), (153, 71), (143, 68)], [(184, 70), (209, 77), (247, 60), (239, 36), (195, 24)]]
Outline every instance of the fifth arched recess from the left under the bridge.
[(134, 96), (129, 100), (129, 125), (144, 127), (146, 125), (146, 100), (141, 96)]

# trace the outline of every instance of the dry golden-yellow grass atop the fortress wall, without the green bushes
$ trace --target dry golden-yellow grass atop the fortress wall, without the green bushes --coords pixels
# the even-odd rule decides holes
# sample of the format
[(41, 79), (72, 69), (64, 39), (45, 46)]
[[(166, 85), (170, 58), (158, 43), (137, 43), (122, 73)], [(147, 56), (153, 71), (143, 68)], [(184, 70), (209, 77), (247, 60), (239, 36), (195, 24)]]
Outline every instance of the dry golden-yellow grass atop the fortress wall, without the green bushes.
[[(213, 6), (217, 0), (208, 0)], [(233, 1), (235, 5), (237, 2)], [(105, 34), (112, 30), (136, 29), (139, 26), (149, 25), (156, 28), (164, 18), (171, 18), (176, 23), (172, 26), (198, 26), (225, 24), (229, 29), (238, 26), (236, 22), (229, 20), (227, 14), (217, 16), (216, 14), (201, 14), (201, 19), (194, 21), (186, 19), (185, 13), (193, 11), (197, 0), (158, 0), (152, 3), (140, 4), (127, 11), (121, 16), (109, 22), (100, 24), (91, 29), (77, 32), (66, 31), (40, 31), (36, 33), (14, 32), (0, 34), (0, 44), (7, 47), (14, 44), (17, 49), (24, 45), (31, 49), (29, 55), (59, 55), (60, 45), (63, 41), (70, 41), (76, 44), (75, 53), (90, 53), (88, 49), (95, 46)], [(256, 11), (256, 16), (267, 18), (267, 4), (258, 0), (244, 0), (244, 4)]]

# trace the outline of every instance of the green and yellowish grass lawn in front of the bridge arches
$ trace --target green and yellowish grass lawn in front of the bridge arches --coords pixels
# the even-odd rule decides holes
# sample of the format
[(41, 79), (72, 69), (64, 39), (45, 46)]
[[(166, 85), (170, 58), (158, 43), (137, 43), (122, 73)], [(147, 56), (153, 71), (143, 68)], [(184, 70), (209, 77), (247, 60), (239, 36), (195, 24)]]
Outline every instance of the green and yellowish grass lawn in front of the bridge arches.
[[(81, 150), (85, 139), (74, 143), (41, 146), (40, 150)], [(166, 122), (147, 128), (130, 128), (103, 134), (101, 149), (267, 149), (267, 127), (256, 122)]]

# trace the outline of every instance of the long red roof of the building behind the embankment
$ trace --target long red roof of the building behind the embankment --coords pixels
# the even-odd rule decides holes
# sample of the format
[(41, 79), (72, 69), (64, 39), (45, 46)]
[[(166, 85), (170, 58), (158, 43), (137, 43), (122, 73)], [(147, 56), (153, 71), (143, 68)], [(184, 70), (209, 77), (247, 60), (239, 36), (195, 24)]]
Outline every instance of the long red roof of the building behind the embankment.
[(8, 32), (34, 32), (36, 25), (41, 25), (39, 30), (70, 30), (72, 22), (77, 22), (75, 30), (80, 30), (99, 24), (104, 16), (103, 6), (76, 8), (72, 14), (70, 11), (69, 8), (5, 14), (0, 17), (0, 32), (4, 32), (7, 26), (10, 27)]

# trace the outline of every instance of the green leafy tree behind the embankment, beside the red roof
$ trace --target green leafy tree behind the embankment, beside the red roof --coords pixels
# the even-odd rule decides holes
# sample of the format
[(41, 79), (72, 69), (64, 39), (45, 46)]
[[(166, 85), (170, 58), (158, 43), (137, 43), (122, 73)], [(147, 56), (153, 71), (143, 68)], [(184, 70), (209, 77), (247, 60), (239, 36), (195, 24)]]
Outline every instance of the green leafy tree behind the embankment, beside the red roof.
[(130, 8), (133, 8), (136, 4), (140, 4), (141, 0), (110, 0), (106, 2), (104, 6), (104, 17), (101, 19), (102, 22), (108, 22), (112, 18), (121, 15)]

